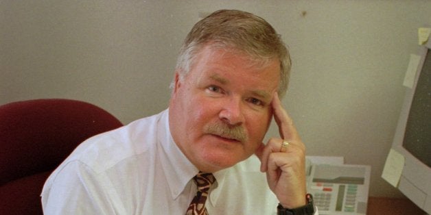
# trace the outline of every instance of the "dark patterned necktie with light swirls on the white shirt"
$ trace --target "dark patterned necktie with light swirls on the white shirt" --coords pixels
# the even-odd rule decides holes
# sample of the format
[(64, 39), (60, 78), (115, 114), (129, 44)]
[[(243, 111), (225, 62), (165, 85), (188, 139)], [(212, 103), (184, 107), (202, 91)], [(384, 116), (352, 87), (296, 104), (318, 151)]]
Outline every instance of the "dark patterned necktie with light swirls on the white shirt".
[(196, 192), (196, 196), (191, 201), (185, 214), (207, 215), (208, 212), (205, 207), (205, 201), (207, 201), (209, 188), (215, 182), (215, 177), (212, 173), (199, 172), (193, 179), (196, 181), (196, 185), (198, 186), (198, 192)]

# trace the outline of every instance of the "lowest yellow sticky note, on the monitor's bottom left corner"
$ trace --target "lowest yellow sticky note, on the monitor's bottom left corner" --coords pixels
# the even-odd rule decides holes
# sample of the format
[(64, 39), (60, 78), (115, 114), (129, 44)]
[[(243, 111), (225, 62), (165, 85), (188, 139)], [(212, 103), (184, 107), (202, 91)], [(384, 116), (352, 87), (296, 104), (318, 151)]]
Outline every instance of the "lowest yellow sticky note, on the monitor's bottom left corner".
[(391, 149), (384, 164), (382, 178), (389, 182), (395, 188), (398, 187), (401, 173), (403, 173), (404, 163), (406, 159), (397, 151)]

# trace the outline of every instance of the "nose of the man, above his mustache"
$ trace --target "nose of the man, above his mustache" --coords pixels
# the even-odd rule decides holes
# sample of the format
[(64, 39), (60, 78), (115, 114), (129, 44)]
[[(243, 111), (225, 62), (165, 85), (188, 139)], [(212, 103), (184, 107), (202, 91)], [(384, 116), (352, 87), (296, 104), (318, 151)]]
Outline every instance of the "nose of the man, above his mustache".
[(227, 99), (227, 101), (222, 104), (219, 118), (229, 125), (242, 125), (242, 123), (244, 123), (243, 111), (241, 99)]

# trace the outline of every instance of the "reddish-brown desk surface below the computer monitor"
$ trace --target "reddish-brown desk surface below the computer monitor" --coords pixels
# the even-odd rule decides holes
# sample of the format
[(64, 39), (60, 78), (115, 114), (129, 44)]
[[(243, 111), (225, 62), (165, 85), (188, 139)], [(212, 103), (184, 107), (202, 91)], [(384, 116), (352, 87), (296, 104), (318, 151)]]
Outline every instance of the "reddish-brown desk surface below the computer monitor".
[(369, 197), (366, 209), (367, 215), (426, 214), (426, 212), (423, 212), (423, 210), (409, 199), (393, 199), (387, 197)]

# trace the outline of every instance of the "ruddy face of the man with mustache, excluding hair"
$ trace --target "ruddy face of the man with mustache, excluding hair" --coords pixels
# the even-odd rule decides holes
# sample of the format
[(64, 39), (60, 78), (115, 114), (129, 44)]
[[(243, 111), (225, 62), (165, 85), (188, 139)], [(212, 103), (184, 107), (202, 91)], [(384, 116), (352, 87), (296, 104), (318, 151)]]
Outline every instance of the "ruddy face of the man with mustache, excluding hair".
[(215, 172), (255, 153), (270, 124), (279, 70), (279, 60), (261, 66), (204, 47), (185, 79), (176, 73), (170, 130), (199, 170)]

